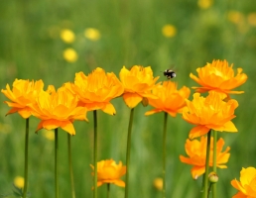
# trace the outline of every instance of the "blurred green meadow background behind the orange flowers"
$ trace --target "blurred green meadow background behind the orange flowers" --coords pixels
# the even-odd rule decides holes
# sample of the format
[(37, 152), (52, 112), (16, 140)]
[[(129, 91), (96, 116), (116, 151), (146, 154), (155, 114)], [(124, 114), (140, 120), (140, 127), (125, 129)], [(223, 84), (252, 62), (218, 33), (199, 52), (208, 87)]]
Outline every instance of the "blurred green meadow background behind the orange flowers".
[[(163, 33), (169, 25), (171, 30)], [(84, 36), (88, 28), (100, 37)], [(61, 33), (73, 32), (75, 40), (65, 43)], [(92, 34), (93, 36), (93, 34)], [(72, 49), (77, 58), (68, 62), (64, 50)], [(75, 55), (75, 54), (74, 54)], [(219, 133), (231, 147), (227, 169), (219, 170), (218, 197), (231, 197), (230, 185), (239, 179), (242, 167), (256, 166), (255, 74), (256, 7), (254, 0), (37, 0), (0, 1), (0, 82), (1, 88), (15, 78), (43, 79), (45, 87), (73, 81), (75, 72), (89, 73), (97, 66), (119, 74), (123, 65), (151, 65), (155, 76), (166, 80), (162, 71), (174, 67), (179, 87), (194, 86), (189, 77), (212, 59), (227, 59), (242, 67), (247, 82), (232, 96), (239, 102), (233, 121), (239, 133)], [(191, 97), (192, 98), (192, 97)], [(25, 120), (8, 111), (0, 95), (0, 194), (12, 192), (16, 176), (23, 176)], [(121, 98), (113, 100), (117, 114), (98, 113), (98, 159), (113, 158), (125, 163), (130, 110)], [(135, 109), (132, 134), (130, 197), (158, 198), (153, 186), (162, 172), (163, 114), (145, 117), (151, 107)], [(76, 197), (92, 197), (92, 113), (89, 123), (75, 122), (72, 137), (72, 163)], [(169, 117), (167, 197), (198, 197), (201, 177), (193, 180), (190, 165), (180, 161), (186, 155), (185, 142), (192, 126)], [(54, 141), (44, 131), (34, 134), (39, 120), (30, 125), (29, 191), (31, 197), (54, 197)], [(63, 131), (62, 131), (63, 132)], [(66, 133), (60, 133), (60, 197), (70, 197)], [(124, 179), (124, 177), (123, 177)], [(99, 188), (105, 197), (106, 186)], [(124, 189), (111, 187), (111, 197), (123, 197)]]

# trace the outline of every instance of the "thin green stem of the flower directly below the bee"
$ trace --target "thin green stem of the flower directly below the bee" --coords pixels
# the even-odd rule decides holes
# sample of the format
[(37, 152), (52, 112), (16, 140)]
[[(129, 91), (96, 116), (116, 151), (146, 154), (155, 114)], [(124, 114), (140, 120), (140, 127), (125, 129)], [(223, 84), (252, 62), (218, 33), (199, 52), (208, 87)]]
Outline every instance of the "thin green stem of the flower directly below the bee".
[(165, 112), (164, 116), (164, 131), (163, 131), (163, 198), (166, 198), (166, 151), (167, 151), (167, 118), (168, 114)]

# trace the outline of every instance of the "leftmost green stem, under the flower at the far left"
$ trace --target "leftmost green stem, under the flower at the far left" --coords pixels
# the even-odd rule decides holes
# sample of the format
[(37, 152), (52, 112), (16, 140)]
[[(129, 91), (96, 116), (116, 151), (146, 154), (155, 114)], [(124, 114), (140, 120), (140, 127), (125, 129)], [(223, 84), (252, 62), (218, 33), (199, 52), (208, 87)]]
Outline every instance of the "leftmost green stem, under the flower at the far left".
[(28, 189), (29, 127), (30, 127), (30, 120), (29, 120), (29, 118), (27, 118), (26, 119), (26, 132), (25, 132), (25, 162), (24, 162), (23, 198), (26, 198), (27, 189)]

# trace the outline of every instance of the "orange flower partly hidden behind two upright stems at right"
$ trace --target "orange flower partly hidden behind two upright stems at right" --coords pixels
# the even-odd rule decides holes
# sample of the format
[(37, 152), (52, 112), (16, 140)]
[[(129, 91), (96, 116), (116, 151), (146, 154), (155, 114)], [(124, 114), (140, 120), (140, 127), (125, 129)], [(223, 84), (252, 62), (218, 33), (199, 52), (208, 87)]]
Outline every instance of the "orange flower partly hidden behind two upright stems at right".
[[(185, 157), (183, 155), (180, 155), (180, 159), (184, 163), (188, 163), (193, 165), (192, 166), (192, 178), (197, 179), (198, 176), (203, 174), (205, 172), (205, 158), (206, 158), (206, 144), (207, 144), (207, 138), (206, 137), (200, 137), (200, 141), (197, 140), (187, 140), (185, 149), (187, 154), (190, 157)], [(230, 153), (227, 153), (230, 149), (227, 147), (223, 152), (221, 152), (225, 142), (223, 139), (219, 139), (217, 141), (217, 167), (219, 168), (226, 168), (226, 165), (223, 165), (223, 163), (226, 163), (228, 161), (228, 158), (230, 156)], [(213, 138), (210, 138), (210, 152), (209, 152), (209, 166), (212, 166), (213, 163)]]

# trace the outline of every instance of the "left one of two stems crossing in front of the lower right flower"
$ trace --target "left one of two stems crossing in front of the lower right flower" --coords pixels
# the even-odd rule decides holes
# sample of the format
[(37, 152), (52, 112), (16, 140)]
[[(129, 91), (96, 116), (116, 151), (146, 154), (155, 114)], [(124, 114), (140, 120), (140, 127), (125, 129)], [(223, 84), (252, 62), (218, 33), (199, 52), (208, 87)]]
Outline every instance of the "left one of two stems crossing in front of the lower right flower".
[(204, 175), (203, 175), (202, 198), (207, 198), (208, 174), (209, 174), (210, 137), (211, 137), (211, 130), (209, 130), (209, 132), (207, 133), (206, 159), (205, 159), (205, 173), (204, 173)]

